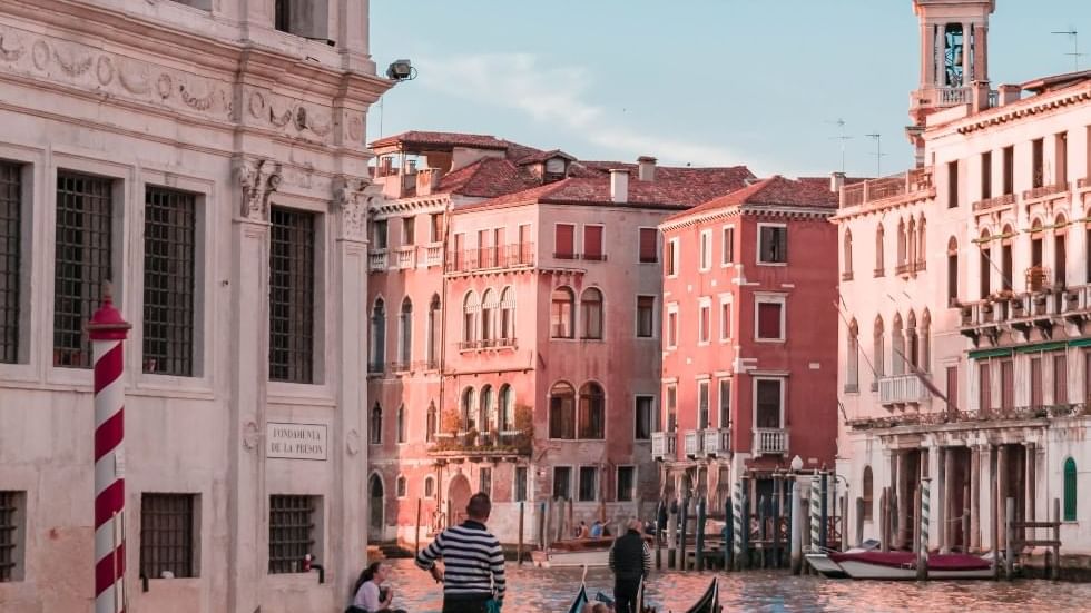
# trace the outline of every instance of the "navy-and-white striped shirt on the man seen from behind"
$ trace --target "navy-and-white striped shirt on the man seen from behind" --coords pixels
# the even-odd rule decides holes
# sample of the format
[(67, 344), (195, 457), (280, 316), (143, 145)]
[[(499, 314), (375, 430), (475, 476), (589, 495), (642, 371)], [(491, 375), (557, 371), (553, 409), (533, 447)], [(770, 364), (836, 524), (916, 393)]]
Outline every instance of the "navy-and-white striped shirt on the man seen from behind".
[(468, 520), (451, 526), (416, 555), (416, 565), (425, 571), (443, 560), (443, 594), (493, 594), (504, 597), (504, 552), (500, 541), (484, 524)]

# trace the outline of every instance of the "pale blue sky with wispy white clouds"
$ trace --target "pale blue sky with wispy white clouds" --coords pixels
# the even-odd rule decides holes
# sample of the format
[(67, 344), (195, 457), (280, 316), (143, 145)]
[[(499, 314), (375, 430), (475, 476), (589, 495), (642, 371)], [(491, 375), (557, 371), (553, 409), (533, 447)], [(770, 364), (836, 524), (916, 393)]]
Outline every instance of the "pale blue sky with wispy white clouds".
[[(407, 58), (417, 77), (368, 140), (488, 134), (789, 177), (841, 170), (844, 145), (848, 175), (889, 175), (913, 161), (918, 36), (912, 0), (372, 0), (380, 72)], [(989, 53), (994, 88), (1091, 68), (1091, 2), (997, 0)]]

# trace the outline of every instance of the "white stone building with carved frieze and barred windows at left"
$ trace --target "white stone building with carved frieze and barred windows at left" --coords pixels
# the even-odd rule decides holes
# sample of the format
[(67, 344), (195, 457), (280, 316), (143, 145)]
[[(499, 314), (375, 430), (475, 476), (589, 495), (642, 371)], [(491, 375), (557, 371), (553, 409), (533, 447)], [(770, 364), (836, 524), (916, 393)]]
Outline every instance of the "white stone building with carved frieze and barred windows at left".
[(0, 2), (0, 610), (94, 597), (82, 325), (107, 279), (132, 324), (131, 610), (343, 610), (366, 541), (364, 128), (391, 85), (367, 19)]

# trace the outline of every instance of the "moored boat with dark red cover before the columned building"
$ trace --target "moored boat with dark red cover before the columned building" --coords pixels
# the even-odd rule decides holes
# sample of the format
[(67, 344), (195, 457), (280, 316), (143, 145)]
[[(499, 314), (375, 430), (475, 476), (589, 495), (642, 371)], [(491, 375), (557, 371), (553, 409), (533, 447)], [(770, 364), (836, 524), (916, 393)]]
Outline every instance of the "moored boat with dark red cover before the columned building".
[[(852, 579), (888, 581), (916, 579), (916, 555), (911, 552), (830, 552), (826, 557), (841, 566), (842, 571)], [(992, 563), (976, 555), (928, 556), (928, 579), (991, 579), (992, 576)]]

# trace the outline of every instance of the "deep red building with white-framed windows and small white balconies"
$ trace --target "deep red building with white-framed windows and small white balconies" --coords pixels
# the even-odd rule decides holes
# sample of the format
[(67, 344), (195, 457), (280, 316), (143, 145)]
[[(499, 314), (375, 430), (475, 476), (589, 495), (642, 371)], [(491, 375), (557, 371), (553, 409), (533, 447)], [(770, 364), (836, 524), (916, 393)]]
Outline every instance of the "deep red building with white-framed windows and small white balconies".
[[(839, 177), (835, 177), (835, 181)], [(665, 486), (720, 511), (798, 455), (832, 467), (837, 434), (836, 192), (776, 176), (677, 214), (665, 241)]]

